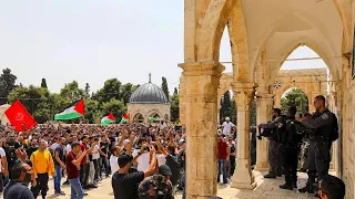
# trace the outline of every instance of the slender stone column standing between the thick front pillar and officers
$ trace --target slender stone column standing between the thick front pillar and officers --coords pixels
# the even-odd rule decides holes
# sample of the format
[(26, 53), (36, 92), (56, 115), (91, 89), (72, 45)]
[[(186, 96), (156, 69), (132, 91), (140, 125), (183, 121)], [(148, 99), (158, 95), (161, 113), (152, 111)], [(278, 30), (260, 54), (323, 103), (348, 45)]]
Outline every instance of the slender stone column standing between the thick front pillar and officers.
[(254, 189), (255, 182), (251, 169), (250, 116), (255, 84), (234, 83), (232, 87), (237, 109), (237, 159), (231, 187)]

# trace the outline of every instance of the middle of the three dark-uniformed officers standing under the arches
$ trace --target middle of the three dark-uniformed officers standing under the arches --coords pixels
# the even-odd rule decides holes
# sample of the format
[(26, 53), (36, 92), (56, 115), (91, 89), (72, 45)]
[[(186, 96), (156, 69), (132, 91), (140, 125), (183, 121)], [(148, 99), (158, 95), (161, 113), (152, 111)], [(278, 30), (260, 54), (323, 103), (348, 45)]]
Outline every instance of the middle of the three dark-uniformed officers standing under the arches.
[(295, 121), (297, 108), (292, 106), (288, 108), (287, 116), (278, 125), (282, 129), (281, 143), (284, 157), (285, 184), (281, 185), (281, 189), (293, 190), (297, 188), (297, 164), (298, 164), (298, 147), (302, 142), (302, 135), (298, 134), (302, 124)]

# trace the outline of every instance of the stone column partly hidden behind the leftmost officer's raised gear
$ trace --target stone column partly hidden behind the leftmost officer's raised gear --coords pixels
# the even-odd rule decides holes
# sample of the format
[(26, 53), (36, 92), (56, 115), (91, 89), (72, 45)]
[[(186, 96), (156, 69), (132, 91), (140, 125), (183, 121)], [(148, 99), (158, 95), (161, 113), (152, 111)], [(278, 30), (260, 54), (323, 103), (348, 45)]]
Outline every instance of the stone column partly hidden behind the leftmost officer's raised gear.
[[(257, 94), (256, 96), (256, 125), (265, 124), (271, 119), (273, 109), (273, 94)], [(256, 139), (256, 170), (268, 170), (268, 140), (263, 137)]]

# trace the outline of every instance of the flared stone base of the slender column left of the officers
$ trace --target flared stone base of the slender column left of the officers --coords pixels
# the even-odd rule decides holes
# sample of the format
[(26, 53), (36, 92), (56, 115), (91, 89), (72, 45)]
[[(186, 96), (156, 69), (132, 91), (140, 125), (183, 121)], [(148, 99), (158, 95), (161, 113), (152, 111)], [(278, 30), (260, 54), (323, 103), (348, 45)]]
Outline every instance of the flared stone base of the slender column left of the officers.
[(236, 159), (231, 188), (253, 190), (256, 187), (250, 164), (250, 159)]

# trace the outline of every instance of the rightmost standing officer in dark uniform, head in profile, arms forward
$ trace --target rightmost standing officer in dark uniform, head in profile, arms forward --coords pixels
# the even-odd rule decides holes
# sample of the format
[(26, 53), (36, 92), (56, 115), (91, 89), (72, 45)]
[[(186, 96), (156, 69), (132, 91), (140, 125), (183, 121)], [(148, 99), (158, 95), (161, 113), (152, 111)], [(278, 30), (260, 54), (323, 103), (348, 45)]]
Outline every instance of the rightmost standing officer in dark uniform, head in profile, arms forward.
[(316, 113), (312, 118), (301, 119), (296, 117), (296, 121), (302, 122), (308, 128), (315, 130), (314, 142), (315, 142), (315, 168), (318, 174), (318, 180), (328, 174), (329, 164), (331, 164), (331, 146), (333, 134), (333, 121), (334, 114), (326, 108), (325, 97), (318, 95), (314, 100), (314, 106)]

